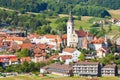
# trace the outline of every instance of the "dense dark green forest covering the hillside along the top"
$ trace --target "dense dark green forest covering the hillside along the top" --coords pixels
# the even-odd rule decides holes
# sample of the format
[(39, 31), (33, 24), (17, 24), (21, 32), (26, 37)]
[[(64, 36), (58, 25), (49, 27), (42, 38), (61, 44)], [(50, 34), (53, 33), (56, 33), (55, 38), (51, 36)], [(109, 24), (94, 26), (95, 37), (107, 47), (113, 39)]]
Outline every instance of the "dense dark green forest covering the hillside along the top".
[(0, 6), (20, 12), (54, 11), (74, 15), (105, 17), (107, 9), (120, 9), (120, 0), (0, 0)]

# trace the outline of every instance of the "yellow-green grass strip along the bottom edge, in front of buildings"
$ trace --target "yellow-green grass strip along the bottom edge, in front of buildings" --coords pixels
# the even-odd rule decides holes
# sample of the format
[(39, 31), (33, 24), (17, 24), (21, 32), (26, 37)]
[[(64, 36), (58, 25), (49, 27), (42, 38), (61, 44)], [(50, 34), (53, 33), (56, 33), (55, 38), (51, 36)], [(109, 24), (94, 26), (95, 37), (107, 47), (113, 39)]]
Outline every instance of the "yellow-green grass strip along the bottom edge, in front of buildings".
[[(90, 80), (88, 77), (39, 77), (39, 76), (14, 76), (14, 77), (5, 77), (0, 78), (0, 80)], [(97, 80), (120, 80), (118, 77), (100, 77), (95, 78)]]

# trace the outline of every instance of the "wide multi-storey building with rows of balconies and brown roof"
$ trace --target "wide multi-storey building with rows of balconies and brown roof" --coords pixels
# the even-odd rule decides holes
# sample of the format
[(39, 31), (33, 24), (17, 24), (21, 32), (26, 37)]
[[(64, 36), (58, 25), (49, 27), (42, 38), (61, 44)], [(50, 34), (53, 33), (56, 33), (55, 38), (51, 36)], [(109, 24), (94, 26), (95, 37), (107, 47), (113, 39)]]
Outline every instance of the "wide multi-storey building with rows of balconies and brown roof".
[(73, 64), (74, 76), (101, 76), (101, 66), (98, 62), (81, 61)]

